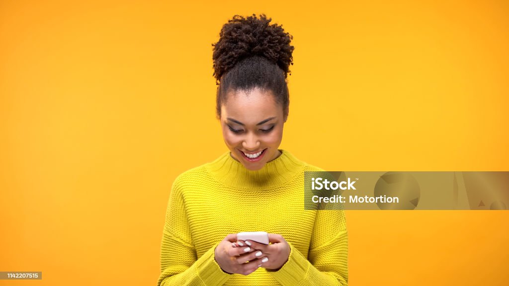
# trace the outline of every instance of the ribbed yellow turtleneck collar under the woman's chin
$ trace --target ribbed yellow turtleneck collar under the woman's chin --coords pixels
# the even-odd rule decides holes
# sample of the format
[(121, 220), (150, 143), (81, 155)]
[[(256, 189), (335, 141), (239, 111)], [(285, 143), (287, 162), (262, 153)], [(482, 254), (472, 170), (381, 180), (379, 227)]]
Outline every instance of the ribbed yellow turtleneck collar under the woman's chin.
[(212, 176), (225, 186), (236, 189), (269, 189), (284, 185), (302, 173), (305, 163), (290, 152), (278, 149), (281, 155), (267, 162), (261, 169), (248, 170), (241, 162), (225, 152), (216, 160), (206, 164)]

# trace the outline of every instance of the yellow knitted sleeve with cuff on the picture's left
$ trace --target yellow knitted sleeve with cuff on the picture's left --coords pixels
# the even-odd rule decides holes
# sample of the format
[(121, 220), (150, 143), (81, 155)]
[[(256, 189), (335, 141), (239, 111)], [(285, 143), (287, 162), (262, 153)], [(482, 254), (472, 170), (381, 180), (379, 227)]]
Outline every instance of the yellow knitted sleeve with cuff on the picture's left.
[(200, 258), (191, 240), (179, 176), (169, 195), (161, 242), (161, 273), (157, 286), (220, 286), (232, 274), (222, 271), (214, 260), (212, 246)]

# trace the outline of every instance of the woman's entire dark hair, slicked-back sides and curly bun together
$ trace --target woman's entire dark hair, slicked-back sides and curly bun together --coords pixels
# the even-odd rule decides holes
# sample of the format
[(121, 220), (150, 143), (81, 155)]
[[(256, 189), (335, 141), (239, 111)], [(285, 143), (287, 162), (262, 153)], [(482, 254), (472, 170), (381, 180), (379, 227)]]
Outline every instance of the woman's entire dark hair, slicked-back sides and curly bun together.
[[(233, 16), (219, 33), (219, 41), (212, 44), (214, 77), (216, 78), (216, 116), (221, 117), (221, 105), (227, 94), (239, 90), (259, 88), (270, 91), (283, 106), (285, 117), (290, 104), (287, 74), (293, 65), (290, 45), (293, 36), (282, 25), (269, 24), (271, 18), (261, 14)], [(290, 73), (291, 75), (291, 73)]]

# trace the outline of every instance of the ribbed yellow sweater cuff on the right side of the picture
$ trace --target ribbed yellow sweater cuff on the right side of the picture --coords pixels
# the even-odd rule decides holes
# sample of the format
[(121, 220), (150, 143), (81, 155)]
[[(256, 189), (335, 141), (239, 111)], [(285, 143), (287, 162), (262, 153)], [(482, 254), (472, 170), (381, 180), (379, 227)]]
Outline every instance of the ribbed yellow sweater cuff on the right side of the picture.
[(288, 244), (290, 245), (288, 261), (279, 270), (267, 270), (267, 272), (281, 285), (297, 285), (306, 276), (310, 264), (297, 248), (293, 247), (290, 242)]

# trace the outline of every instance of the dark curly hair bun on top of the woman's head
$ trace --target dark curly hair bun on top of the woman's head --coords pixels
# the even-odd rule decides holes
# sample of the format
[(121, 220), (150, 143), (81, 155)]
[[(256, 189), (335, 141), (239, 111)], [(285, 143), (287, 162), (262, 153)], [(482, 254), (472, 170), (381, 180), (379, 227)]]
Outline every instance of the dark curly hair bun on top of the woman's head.
[(256, 14), (246, 18), (235, 15), (222, 26), (219, 41), (212, 44), (217, 81), (238, 62), (255, 55), (276, 64), (287, 77), (289, 66), (293, 65), (294, 47), (290, 45), (293, 36), (285, 33), (282, 25), (269, 24), (271, 20), (265, 14), (260, 18)]

